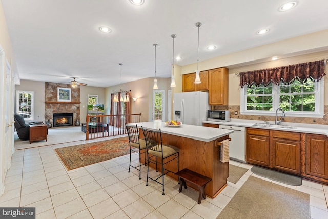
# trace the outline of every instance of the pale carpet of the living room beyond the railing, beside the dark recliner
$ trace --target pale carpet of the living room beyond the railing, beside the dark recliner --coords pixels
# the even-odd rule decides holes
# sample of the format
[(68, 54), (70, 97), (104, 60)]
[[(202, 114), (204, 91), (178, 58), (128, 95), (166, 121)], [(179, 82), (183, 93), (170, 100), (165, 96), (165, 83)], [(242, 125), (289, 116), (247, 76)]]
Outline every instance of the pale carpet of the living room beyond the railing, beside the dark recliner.
[(32, 147), (40, 147), (46, 145), (55, 145), (66, 142), (75, 142), (86, 139), (86, 133), (81, 131), (81, 126), (72, 127), (56, 127), (48, 129), (48, 140), (36, 141), (30, 144), (30, 141), (23, 141), (18, 138), (17, 133), (14, 133), (15, 149), (26, 149)]

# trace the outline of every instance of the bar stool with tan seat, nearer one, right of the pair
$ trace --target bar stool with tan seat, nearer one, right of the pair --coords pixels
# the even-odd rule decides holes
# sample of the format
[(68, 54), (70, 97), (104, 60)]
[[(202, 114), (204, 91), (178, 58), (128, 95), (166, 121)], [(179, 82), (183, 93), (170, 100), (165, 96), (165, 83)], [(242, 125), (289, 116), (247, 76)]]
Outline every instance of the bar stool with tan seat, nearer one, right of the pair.
[[(168, 169), (164, 168), (164, 165), (177, 159), (177, 168), (179, 172), (179, 148), (168, 145), (168, 144), (162, 144), (162, 135), (159, 131), (153, 131), (153, 130), (148, 130), (144, 129), (141, 126), (142, 132), (144, 133), (145, 140), (146, 140), (146, 146), (147, 146), (147, 182), (146, 186), (148, 186), (148, 179), (150, 178), (151, 180), (161, 184), (163, 186), (163, 194), (164, 195), (164, 175), (172, 172)], [(154, 144), (155, 143), (155, 144)], [(154, 158), (155, 157), (155, 160)], [(157, 157), (160, 158), (160, 164), (161, 164), (161, 175), (157, 178), (151, 178), (149, 177), (149, 163), (155, 164), (156, 165), (156, 171), (157, 171)], [(164, 161), (166, 160), (166, 161)], [(165, 172), (166, 171), (166, 172)], [(172, 172), (174, 173), (174, 172)], [(162, 178), (162, 181), (159, 181), (159, 178)]]

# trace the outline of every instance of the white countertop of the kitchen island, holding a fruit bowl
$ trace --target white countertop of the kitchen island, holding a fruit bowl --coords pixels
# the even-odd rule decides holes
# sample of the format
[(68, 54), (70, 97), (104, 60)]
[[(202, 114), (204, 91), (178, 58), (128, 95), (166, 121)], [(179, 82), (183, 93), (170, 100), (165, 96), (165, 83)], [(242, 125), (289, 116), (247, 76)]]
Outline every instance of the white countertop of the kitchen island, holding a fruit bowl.
[(172, 134), (180, 137), (187, 137), (203, 142), (211, 142), (217, 138), (229, 135), (233, 133), (233, 130), (227, 129), (217, 129), (204, 126), (194, 126), (181, 124), (180, 127), (168, 127), (165, 122), (162, 121), (153, 121), (153, 122), (140, 122), (140, 123), (130, 123), (131, 125), (136, 125), (141, 128), (151, 130), (159, 130), (162, 133)]

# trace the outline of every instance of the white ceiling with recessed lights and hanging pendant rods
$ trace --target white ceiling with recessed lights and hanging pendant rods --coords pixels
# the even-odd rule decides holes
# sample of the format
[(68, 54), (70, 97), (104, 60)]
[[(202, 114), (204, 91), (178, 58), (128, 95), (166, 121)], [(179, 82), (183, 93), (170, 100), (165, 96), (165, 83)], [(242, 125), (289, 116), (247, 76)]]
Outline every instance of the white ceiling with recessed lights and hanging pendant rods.
[[(109, 87), (155, 76), (170, 77), (173, 39), (178, 65), (328, 29), (327, 0), (1, 0), (21, 79)], [(108, 26), (111, 33), (101, 33)], [(263, 28), (265, 35), (256, 32)], [(215, 45), (215, 50), (206, 49)], [(195, 69), (196, 70), (196, 69)]]

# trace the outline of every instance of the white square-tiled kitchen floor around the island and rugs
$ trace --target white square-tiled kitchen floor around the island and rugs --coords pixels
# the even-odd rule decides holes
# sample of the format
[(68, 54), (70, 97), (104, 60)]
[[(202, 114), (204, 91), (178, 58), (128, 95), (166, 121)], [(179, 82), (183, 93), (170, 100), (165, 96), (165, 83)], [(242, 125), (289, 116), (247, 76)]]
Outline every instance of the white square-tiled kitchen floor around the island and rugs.
[[(85, 142), (83, 142), (85, 143)], [(165, 196), (161, 185), (146, 186), (147, 168), (128, 173), (129, 155), (67, 171), (54, 148), (80, 142), (17, 150), (5, 180), (1, 207), (36, 207), (36, 218), (216, 218), (250, 175), (247, 171), (236, 183), (214, 199), (197, 204), (198, 192), (188, 188), (178, 192), (178, 184), (166, 178)], [(133, 155), (137, 162), (137, 155)], [(250, 169), (252, 165), (230, 161)], [(158, 174), (154, 170), (151, 174)], [(256, 176), (259, 177), (259, 176)], [(263, 177), (260, 177), (263, 178)], [(263, 178), (263, 180), (268, 180)], [(328, 218), (328, 186), (303, 180), (302, 186), (283, 185), (310, 194), (311, 218)], [(293, 217), (291, 215), (291, 217)]]

